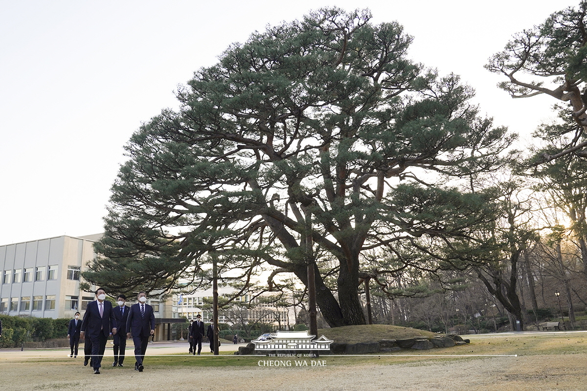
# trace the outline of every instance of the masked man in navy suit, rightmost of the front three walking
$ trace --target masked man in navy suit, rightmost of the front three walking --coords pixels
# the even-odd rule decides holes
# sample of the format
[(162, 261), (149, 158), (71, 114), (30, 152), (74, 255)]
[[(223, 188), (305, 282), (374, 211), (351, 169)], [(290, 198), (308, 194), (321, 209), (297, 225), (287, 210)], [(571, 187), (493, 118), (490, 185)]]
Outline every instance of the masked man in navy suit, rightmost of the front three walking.
[(129, 310), (129, 317), (126, 319), (126, 336), (133, 337), (134, 342), (134, 370), (143, 372), (143, 359), (147, 352), (147, 344), (149, 344), (149, 336), (155, 335), (155, 313), (153, 307), (145, 304), (147, 301), (147, 294), (139, 292), (137, 296), (139, 302), (133, 304)]

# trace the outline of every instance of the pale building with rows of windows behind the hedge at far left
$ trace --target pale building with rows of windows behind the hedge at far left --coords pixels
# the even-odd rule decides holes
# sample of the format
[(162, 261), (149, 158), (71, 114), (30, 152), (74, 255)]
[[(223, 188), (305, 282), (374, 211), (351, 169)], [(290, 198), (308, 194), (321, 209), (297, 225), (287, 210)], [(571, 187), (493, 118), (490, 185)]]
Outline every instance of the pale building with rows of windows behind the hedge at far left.
[[(80, 290), (80, 274), (96, 257), (93, 243), (100, 237), (101, 233), (58, 236), (0, 246), (0, 314), (73, 318), (79, 311), (83, 317), (87, 303), (96, 297), (93, 292)], [(92, 285), (92, 290), (96, 289)], [(129, 297), (127, 302), (134, 304), (136, 297)], [(155, 338), (173, 339), (171, 324), (180, 322), (177, 307), (170, 301), (148, 303), (155, 312)]]

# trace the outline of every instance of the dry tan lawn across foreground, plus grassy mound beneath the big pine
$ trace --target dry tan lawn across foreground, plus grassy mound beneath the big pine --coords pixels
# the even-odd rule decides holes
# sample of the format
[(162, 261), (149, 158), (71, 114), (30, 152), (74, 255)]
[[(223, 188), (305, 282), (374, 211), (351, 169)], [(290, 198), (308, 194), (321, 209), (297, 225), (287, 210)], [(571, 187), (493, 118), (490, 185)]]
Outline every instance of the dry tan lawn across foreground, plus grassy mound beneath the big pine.
[[(325, 329), (319, 335), (349, 342), (414, 336), (411, 329)], [(361, 329), (362, 328), (362, 329)], [(403, 330), (402, 330), (403, 329)], [(406, 334), (403, 334), (405, 332)], [(340, 334), (335, 334), (340, 333)], [(419, 331), (416, 331), (419, 334)], [(340, 335), (340, 336), (339, 336)], [(420, 335), (420, 334), (419, 334)], [(157, 391), (329, 390), (370, 391), (569, 391), (587, 390), (587, 332), (469, 335), (471, 344), (430, 351), (401, 351), (389, 355), (322, 356), (325, 365), (271, 368), (259, 365), (269, 358), (243, 356), (170, 355), (147, 357), (146, 370), (104, 368), (101, 375), (79, 359), (53, 357), (18, 359), (0, 351), (0, 372), (11, 391), (98, 391), (103, 389)], [(340, 339), (339, 339), (340, 338)], [(153, 349), (155, 351), (156, 349)], [(161, 349), (164, 350), (164, 349)], [(129, 352), (131, 354), (131, 352)], [(149, 353), (149, 351), (147, 351)], [(409, 356), (407, 356), (409, 355)], [(293, 359), (292, 359), (293, 360)], [(109, 361), (106, 361), (109, 362)], [(132, 359), (127, 362), (132, 365)]]

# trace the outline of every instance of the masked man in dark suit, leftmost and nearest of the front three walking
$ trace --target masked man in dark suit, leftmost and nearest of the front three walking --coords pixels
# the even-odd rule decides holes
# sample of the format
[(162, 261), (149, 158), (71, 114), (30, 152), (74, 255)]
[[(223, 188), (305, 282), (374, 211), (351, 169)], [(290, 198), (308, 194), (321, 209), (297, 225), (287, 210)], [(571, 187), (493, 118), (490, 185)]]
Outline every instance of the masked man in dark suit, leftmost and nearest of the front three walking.
[[(102, 357), (106, 350), (106, 340), (112, 332), (116, 335), (116, 319), (112, 303), (106, 299), (106, 291), (103, 288), (96, 290), (96, 301), (87, 304), (86, 313), (83, 315), (82, 331), (80, 338), (85, 338), (87, 333), (92, 342), (92, 367), (94, 373), (100, 375)], [(84, 362), (84, 365), (86, 363)]]

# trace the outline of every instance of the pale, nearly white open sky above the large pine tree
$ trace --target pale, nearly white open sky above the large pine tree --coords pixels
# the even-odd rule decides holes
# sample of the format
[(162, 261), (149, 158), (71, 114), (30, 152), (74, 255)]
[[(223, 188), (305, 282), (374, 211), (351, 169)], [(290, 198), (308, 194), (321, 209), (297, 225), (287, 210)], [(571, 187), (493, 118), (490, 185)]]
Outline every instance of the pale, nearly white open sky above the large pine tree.
[(369, 8), (413, 36), (409, 57), (456, 73), (530, 142), (548, 97), (513, 100), (483, 68), (514, 33), (579, 0), (0, 0), (0, 245), (103, 231), (123, 146), (231, 43), (311, 10)]

